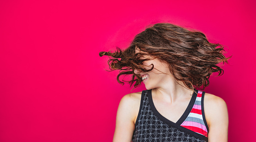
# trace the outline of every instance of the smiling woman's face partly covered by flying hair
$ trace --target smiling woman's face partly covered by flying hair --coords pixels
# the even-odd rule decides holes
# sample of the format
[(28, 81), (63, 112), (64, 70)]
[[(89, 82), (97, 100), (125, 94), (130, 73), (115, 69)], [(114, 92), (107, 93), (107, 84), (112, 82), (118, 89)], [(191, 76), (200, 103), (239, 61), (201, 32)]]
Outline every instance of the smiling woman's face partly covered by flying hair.
[[(135, 53), (138, 53), (138, 52), (142, 52), (142, 51), (140, 51), (139, 49), (136, 49)], [(144, 56), (144, 58), (148, 58), (148, 57), (149, 56)], [(143, 72), (143, 71), (139, 71), (138, 69), (134, 70), (134, 73), (138, 74), (140, 77), (144, 75), (148, 76), (146, 79), (143, 80), (143, 83), (145, 84), (145, 87), (147, 90), (150, 90), (156, 87), (161, 87), (161, 85), (164, 85), (164, 83), (167, 83), (170, 78), (172, 80), (174, 79), (166, 63), (161, 62), (157, 58), (153, 60), (146, 60), (143, 62), (143, 65), (147, 66), (146, 67), (147, 70), (151, 69), (152, 67), (150, 66), (151, 64), (154, 65), (154, 69), (150, 72)]]

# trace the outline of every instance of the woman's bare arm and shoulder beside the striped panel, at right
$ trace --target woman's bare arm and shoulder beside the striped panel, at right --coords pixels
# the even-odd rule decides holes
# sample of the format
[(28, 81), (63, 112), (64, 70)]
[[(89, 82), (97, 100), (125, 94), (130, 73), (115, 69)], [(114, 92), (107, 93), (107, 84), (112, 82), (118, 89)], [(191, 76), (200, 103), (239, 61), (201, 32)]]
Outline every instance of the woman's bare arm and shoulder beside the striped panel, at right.
[(205, 93), (204, 113), (209, 124), (208, 142), (227, 142), (228, 112), (226, 102)]

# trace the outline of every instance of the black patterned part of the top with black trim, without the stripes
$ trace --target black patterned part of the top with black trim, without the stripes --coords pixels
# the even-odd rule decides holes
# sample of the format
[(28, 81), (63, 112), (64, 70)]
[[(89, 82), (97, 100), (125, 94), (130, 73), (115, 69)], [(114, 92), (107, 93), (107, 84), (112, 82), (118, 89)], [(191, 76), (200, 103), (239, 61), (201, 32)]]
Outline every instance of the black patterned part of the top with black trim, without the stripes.
[[(202, 92), (202, 91), (201, 91)], [(203, 92), (203, 96), (204, 97)], [(135, 123), (132, 142), (208, 142), (207, 135), (202, 135), (184, 126), (180, 126), (189, 117), (197, 99), (198, 90), (192, 95), (188, 107), (180, 119), (174, 123), (163, 117), (155, 108), (151, 90), (144, 90), (141, 94), (140, 110)], [(202, 100), (203, 104), (203, 100)], [(203, 123), (207, 127), (202, 105)], [(206, 131), (207, 131), (206, 130)]]

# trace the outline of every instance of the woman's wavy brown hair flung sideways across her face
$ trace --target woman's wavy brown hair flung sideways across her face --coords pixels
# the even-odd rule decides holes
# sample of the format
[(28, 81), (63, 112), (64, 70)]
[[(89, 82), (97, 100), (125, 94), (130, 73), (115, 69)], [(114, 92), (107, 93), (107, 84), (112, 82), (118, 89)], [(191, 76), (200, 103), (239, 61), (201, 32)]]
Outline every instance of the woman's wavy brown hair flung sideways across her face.
[[(135, 54), (137, 48), (143, 52)], [(114, 53), (100, 52), (99, 56), (113, 57), (108, 60), (108, 64), (111, 71), (120, 70), (117, 82), (122, 85), (124, 82), (128, 82), (130, 87), (135, 82), (134, 88), (141, 85), (142, 79), (134, 73), (134, 69), (144, 72), (153, 70), (153, 64), (149, 70), (143, 65), (143, 61), (152, 58), (141, 59), (149, 55), (167, 63), (176, 81), (183, 82), (190, 89), (194, 88), (193, 85), (199, 88), (203, 85), (200, 89), (204, 90), (209, 86), (209, 76), (213, 72), (218, 72), (218, 76), (224, 73), (217, 64), (228, 63), (227, 60), (232, 57), (226, 58), (222, 54), (225, 51), (223, 48), (221, 44), (209, 43), (204, 33), (170, 23), (157, 23), (137, 34), (127, 49), (116, 47)], [(132, 75), (131, 80), (121, 82), (121, 75)]]

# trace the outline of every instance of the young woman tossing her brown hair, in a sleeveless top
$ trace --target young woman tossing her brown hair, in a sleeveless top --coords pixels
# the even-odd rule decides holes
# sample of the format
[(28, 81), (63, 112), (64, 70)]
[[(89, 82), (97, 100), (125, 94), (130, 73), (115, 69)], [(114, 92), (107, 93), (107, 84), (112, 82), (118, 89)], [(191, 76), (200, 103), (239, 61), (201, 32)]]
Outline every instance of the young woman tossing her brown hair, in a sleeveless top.
[(121, 99), (113, 142), (227, 142), (225, 101), (194, 88), (209, 86), (213, 72), (222, 75), (217, 64), (231, 57), (222, 55), (221, 44), (198, 31), (157, 23), (127, 49), (117, 49), (99, 55), (113, 57), (108, 63), (121, 70), (119, 83), (120, 75), (132, 75), (130, 85), (143, 82), (146, 90)]

